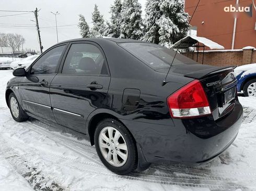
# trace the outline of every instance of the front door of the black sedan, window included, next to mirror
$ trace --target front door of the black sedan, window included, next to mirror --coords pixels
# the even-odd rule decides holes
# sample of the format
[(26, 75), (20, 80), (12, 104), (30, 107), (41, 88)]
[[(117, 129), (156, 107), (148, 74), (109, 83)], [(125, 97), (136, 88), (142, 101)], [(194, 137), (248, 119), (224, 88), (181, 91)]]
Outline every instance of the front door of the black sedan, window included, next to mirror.
[(55, 122), (50, 101), (50, 84), (60, 66), (66, 44), (45, 52), (20, 80), (19, 93), (24, 109), (38, 117)]

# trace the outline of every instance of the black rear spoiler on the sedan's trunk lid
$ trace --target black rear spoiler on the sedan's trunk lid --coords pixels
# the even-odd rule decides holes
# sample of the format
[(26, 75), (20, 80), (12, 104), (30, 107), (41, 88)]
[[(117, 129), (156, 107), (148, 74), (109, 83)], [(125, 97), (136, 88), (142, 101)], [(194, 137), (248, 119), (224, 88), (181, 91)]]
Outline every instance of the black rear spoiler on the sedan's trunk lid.
[(228, 67), (214, 67), (214, 68), (208, 68), (205, 70), (199, 70), (196, 72), (190, 72), (184, 74), (184, 77), (194, 78), (194, 79), (203, 79), (206, 77), (206, 75), (213, 75), (219, 72), (223, 72), (226, 70), (234, 70), (236, 66), (228, 66)]

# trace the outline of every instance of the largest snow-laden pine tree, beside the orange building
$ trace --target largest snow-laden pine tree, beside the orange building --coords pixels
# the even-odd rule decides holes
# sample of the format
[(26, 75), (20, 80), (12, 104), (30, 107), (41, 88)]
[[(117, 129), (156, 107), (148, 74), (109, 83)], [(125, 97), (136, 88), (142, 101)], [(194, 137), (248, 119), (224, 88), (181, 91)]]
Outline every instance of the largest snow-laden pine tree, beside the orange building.
[(143, 40), (170, 48), (188, 32), (183, 0), (147, 1)]

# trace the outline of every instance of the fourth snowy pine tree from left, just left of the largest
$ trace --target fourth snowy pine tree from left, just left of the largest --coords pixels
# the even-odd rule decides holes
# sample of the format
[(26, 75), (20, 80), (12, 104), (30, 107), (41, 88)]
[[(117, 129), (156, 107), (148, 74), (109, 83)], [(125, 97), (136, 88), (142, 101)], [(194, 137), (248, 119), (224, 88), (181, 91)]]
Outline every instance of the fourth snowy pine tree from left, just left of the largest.
[(124, 39), (141, 39), (142, 31), (142, 6), (137, 0), (124, 0), (121, 15), (121, 34)]

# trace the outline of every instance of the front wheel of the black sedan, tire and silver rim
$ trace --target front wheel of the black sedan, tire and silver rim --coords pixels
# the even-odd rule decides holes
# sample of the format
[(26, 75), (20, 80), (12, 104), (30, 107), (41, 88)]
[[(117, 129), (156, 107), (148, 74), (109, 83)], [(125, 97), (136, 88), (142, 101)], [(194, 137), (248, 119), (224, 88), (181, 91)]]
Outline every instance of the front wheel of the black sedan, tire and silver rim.
[(26, 112), (20, 107), (17, 97), (14, 93), (9, 95), (9, 109), (11, 116), (17, 122), (26, 121), (29, 117)]

